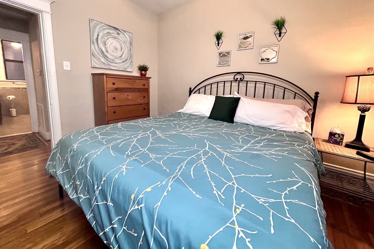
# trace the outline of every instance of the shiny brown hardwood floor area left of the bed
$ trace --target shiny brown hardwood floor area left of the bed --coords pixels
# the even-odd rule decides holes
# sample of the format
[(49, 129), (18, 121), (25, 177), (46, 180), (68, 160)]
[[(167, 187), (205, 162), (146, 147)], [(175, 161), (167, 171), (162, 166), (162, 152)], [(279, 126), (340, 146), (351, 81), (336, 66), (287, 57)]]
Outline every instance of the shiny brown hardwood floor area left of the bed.
[(45, 172), (50, 147), (0, 158), (0, 248), (91, 248), (102, 241)]

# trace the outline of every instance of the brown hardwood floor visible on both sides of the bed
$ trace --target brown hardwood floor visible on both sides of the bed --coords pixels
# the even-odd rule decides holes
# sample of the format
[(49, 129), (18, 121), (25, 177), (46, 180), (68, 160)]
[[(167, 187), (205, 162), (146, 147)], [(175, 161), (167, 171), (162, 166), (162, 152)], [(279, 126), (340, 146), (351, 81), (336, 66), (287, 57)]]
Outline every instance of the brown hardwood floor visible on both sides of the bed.
[[(50, 147), (0, 158), (0, 248), (101, 249), (83, 211), (45, 172)], [(66, 196), (66, 194), (65, 194)], [(335, 249), (374, 248), (374, 211), (322, 197)]]

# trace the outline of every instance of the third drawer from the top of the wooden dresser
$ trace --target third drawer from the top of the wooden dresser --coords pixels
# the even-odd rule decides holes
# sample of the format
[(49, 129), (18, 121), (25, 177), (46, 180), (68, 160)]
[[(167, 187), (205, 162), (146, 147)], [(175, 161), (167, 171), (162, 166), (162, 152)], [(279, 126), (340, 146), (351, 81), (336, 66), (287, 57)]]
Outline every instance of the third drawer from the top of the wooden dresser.
[(108, 107), (108, 120), (145, 116), (149, 113), (149, 105), (111, 106)]

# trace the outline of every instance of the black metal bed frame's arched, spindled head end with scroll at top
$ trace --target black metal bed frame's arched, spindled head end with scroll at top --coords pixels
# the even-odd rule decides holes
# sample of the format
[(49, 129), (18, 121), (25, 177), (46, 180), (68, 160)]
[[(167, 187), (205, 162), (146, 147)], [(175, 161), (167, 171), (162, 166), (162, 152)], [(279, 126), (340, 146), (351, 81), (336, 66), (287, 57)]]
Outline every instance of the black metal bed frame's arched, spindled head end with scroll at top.
[[(215, 78), (220, 78), (221, 76), (232, 75), (232, 74), (234, 75), (232, 80), (218, 80), (218, 81), (215, 81)], [(267, 77), (267, 78), (270, 78), (270, 79), (275, 80), (275, 81), (278, 80), (278, 81), (280, 81), (280, 83), (282, 83), (284, 85), (291, 85), (292, 88), (294, 88), (294, 90), (292, 90), (288, 87), (285, 87), (283, 85), (280, 85), (280, 84), (271, 83), (271, 82), (267, 82), (267, 81), (263, 81), (263, 80), (244, 80), (245, 75), (260, 75), (260, 76)], [(210, 80), (212, 80), (214, 82), (209, 83)], [(274, 75), (270, 75), (270, 74), (264, 74), (264, 73), (260, 73), (260, 72), (228, 72), (228, 73), (223, 73), (223, 74), (217, 74), (217, 75), (214, 75), (212, 77), (209, 77), (209, 78), (201, 81), (194, 88), (190, 87), (188, 96), (191, 96), (191, 94), (193, 94), (193, 93), (217, 96), (218, 93), (220, 92), (218, 90), (218, 88), (220, 88), (220, 87), (223, 89), (222, 95), (225, 95), (227, 84), (230, 85), (230, 93), (229, 93), (230, 95), (233, 94), (233, 90), (237, 91), (237, 93), (239, 93), (240, 89), (242, 89), (245, 86), (245, 96), (248, 96), (248, 94), (249, 94), (248, 86), (254, 85), (254, 93), (253, 93), (252, 97), (257, 97), (257, 98), (264, 99), (265, 98), (265, 92), (267, 90), (269, 90), (269, 87), (270, 87), (270, 93), (271, 93), (271, 90), (273, 91), (272, 99), (274, 99), (276, 90), (278, 90), (278, 92), (279, 92), (279, 90), (281, 90), (281, 91), (283, 90), (282, 99), (285, 99), (286, 93), (287, 93), (288, 96), (290, 95), (290, 93), (293, 94), (294, 99), (296, 99), (296, 97), (300, 97), (301, 99), (303, 99), (307, 103), (309, 103), (309, 105), (311, 105), (312, 108), (313, 108), (313, 113), (312, 113), (312, 117), (311, 117), (311, 122), (312, 122), (311, 130), (312, 130), (312, 133), (313, 133), (314, 120), (315, 120), (315, 117), (316, 117), (316, 110), (317, 110), (319, 92), (316, 91), (314, 93), (315, 95), (314, 95), (314, 98), (313, 98), (303, 88), (301, 88), (298, 85), (292, 83), (291, 81), (285, 80), (285, 79), (283, 79), (281, 77), (278, 77), (278, 76), (274, 76)], [(263, 88), (262, 96), (261, 96), (261, 94), (260, 94), (260, 96), (258, 96), (258, 94), (256, 94), (258, 89), (259, 89), (257, 87), (258, 84), (260, 84), (261, 88)], [(236, 85), (237, 85), (237, 87), (236, 87)], [(215, 90), (215, 93), (212, 92), (212, 88), (214, 86), (217, 88)], [(240, 87), (242, 87), (242, 88), (240, 88)], [(207, 93), (207, 90), (208, 90), (208, 93)], [(260, 93), (261, 93), (261, 91), (260, 91)]]

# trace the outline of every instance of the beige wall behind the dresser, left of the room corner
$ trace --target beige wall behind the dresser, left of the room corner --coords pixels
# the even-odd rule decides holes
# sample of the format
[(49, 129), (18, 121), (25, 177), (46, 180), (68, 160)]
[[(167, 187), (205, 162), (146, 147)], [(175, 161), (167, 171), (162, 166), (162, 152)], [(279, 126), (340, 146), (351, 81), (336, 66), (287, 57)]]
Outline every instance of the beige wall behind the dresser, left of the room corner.
[[(157, 15), (128, 0), (59, 0), (51, 11), (62, 134), (95, 125), (91, 73), (139, 75), (140, 63), (150, 66), (150, 113), (157, 115)], [(90, 18), (132, 32), (134, 72), (91, 68)]]

